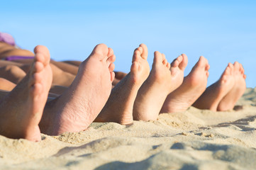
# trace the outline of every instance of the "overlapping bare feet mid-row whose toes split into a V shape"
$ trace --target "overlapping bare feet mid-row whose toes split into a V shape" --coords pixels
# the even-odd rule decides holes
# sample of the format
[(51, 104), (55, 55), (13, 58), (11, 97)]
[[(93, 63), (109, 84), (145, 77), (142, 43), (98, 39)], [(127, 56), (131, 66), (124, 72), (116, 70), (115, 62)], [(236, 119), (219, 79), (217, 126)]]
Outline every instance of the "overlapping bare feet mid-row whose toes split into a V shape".
[(171, 67), (165, 59), (165, 55), (155, 52), (150, 76), (140, 87), (134, 103), (134, 120), (157, 119), (167, 95), (182, 84), (186, 66), (186, 55), (177, 57)]

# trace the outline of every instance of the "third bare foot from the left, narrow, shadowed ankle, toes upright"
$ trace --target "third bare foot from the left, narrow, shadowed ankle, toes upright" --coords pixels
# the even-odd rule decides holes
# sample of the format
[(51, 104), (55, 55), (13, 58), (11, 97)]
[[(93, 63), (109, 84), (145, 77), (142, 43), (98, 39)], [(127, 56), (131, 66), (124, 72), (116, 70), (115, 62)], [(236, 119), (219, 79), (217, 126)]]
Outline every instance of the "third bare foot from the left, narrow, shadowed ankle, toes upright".
[(150, 67), (147, 62), (148, 48), (141, 44), (133, 54), (130, 73), (112, 89), (111, 95), (96, 122), (133, 123), (133, 103), (140, 86), (147, 79)]

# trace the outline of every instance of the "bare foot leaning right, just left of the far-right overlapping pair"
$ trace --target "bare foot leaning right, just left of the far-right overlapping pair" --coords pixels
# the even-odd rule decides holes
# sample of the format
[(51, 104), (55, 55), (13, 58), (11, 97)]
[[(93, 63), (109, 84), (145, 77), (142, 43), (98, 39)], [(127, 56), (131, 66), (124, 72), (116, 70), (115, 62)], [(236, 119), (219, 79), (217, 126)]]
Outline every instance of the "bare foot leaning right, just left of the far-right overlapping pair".
[(186, 111), (206, 89), (210, 66), (204, 57), (200, 57), (189, 75), (178, 89), (169, 94), (160, 113)]

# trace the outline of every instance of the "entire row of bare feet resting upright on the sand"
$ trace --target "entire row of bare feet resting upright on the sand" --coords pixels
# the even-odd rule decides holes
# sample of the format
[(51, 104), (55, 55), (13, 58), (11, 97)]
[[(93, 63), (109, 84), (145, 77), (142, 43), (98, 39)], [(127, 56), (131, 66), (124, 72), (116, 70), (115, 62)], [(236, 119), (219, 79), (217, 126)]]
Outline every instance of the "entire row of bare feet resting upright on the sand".
[(35, 47), (35, 61), (27, 76), (0, 103), (0, 134), (40, 140), (40, 132), (60, 135), (86, 130), (93, 122), (156, 120), (159, 113), (186, 111), (189, 106), (211, 111), (233, 108), (245, 91), (245, 74), (238, 62), (228, 64), (221, 78), (208, 86), (209, 64), (200, 57), (187, 77), (187, 56), (171, 64), (155, 52), (152, 69), (148, 49), (141, 44), (133, 54), (130, 72), (112, 89), (116, 57), (104, 44), (96, 45), (79, 66), (77, 77), (61, 96), (47, 101), (52, 82), (50, 53)]

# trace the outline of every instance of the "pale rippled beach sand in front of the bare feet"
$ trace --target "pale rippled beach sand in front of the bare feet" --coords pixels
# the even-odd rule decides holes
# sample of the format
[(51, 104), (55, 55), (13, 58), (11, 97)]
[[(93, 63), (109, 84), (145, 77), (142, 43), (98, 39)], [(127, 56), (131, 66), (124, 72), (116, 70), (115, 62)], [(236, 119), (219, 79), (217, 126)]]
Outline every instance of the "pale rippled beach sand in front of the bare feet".
[(41, 142), (0, 136), (0, 169), (256, 169), (256, 88), (238, 111), (194, 107), (133, 125), (92, 123)]

